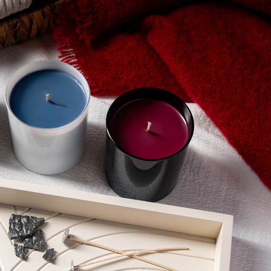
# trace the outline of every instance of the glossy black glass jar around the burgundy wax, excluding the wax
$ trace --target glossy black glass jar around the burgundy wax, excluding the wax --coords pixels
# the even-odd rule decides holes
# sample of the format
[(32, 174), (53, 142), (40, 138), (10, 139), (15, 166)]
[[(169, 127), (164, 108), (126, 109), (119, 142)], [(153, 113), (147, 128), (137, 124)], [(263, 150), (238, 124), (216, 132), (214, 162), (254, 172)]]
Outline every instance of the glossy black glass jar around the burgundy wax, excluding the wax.
[[(175, 154), (163, 159), (142, 159), (122, 150), (108, 130), (114, 113), (127, 102), (153, 98), (170, 103), (184, 116), (189, 130), (186, 145)], [(187, 105), (174, 94), (157, 88), (139, 88), (119, 96), (106, 116), (105, 176), (110, 187), (121, 197), (156, 202), (174, 189), (194, 132), (194, 121)]]

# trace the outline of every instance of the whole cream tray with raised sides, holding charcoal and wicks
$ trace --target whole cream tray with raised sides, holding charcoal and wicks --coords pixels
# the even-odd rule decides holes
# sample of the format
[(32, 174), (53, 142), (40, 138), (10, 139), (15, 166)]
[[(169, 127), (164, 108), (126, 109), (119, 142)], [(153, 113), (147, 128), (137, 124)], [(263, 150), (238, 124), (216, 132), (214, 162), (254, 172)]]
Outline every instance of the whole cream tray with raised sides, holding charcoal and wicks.
[[(72, 236), (130, 251), (169, 246), (189, 250), (144, 254), (144, 258), (178, 271), (229, 271), (233, 216), (160, 203), (149, 203), (62, 188), (0, 179), (0, 271), (68, 271), (74, 265), (99, 260), (112, 252), (72, 240)], [(18, 207), (19, 206), (19, 207)], [(15, 256), (7, 237), (11, 213), (44, 217), (41, 226), (54, 260), (44, 251), (30, 251), (25, 260)], [(20, 242), (20, 240), (19, 240)], [(18, 242), (18, 243), (19, 243)], [(165, 270), (129, 257), (106, 261), (78, 271)]]

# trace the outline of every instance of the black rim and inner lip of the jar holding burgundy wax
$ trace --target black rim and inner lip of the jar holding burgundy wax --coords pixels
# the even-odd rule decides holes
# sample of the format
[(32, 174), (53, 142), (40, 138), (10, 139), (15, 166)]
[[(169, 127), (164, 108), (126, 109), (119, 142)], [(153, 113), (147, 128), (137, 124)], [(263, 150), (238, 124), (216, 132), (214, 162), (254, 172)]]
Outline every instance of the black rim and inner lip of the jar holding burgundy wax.
[[(169, 156), (162, 157), (162, 158), (155, 158), (155, 159), (142, 158), (142, 157), (135, 156), (135, 155), (130, 154), (129, 152), (125, 151), (123, 148), (121, 148), (115, 142), (114, 138), (110, 134), (109, 123), (111, 121), (111, 118), (115, 114), (115, 112), (118, 110), (118, 108), (120, 108), (122, 105), (126, 104), (127, 102), (131, 102), (131, 101), (138, 100), (138, 99), (145, 99), (145, 98), (156, 99), (156, 100), (168, 102), (169, 104), (174, 106), (178, 111), (180, 111), (180, 110), (175, 105), (179, 104), (179, 105), (182, 105), (182, 107), (185, 108), (185, 110), (187, 111), (187, 114), (188, 114), (189, 120), (190, 120), (189, 137), (187, 139), (187, 142), (185, 143), (185, 145), (182, 148), (180, 148), (178, 151), (176, 151), (175, 153), (173, 153)], [(164, 98), (164, 99), (162, 99), (162, 98)], [(183, 117), (185, 118), (185, 121), (187, 122), (187, 125), (189, 126), (187, 116), (183, 116)], [(194, 119), (193, 119), (193, 115), (192, 115), (189, 107), (187, 106), (187, 104), (181, 98), (176, 96), (175, 94), (173, 94), (167, 90), (160, 89), (160, 88), (154, 88), (154, 87), (136, 88), (136, 89), (132, 89), (132, 90), (129, 90), (129, 91), (121, 94), (110, 105), (110, 107), (107, 111), (105, 123), (106, 123), (106, 133), (110, 137), (110, 139), (112, 140), (114, 145), (120, 151), (122, 151), (125, 155), (132, 157), (132, 158), (135, 158), (135, 159), (138, 159), (138, 160), (141, 160), (141, 161), (164, 161), (164, 160), (169, 159), (170, 157), (178, 155), (178, 153), (183, 151), (188, 146), (188, 144), (190, 143), (190, 141), (192, 139), (193, 133), (194, 133)]]

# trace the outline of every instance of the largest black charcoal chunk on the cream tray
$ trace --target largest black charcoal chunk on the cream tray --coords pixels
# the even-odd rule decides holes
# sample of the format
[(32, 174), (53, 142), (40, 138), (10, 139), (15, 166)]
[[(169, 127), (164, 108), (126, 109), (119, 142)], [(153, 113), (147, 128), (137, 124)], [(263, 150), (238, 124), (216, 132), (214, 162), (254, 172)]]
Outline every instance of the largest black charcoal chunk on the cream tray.
[(44, 223), (44, 218), (12, 214), (9, 218), (8, 236), (10, 239), (31, 236), (34, 230)]

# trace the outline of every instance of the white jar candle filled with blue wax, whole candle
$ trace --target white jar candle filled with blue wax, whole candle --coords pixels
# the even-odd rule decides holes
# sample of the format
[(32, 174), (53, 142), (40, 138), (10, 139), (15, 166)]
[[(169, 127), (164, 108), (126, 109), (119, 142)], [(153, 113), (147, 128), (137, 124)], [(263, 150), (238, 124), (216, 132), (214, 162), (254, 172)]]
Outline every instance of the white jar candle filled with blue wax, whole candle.
[(90, 88), (72, 66), (41, 60), (17, 70), (5, 102), (14, 153), (40, 174), (72, 168), (84, 150)]

